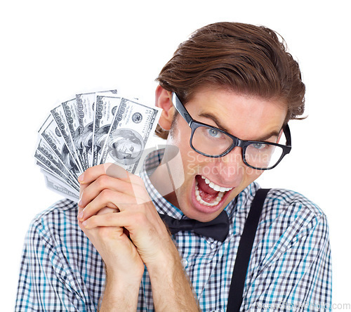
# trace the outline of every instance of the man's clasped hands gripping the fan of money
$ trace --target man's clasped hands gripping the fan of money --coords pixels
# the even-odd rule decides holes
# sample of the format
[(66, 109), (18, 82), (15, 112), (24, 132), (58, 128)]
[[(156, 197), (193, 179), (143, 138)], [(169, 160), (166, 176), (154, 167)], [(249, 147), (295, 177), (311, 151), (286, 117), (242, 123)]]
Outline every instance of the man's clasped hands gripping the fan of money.
[[(88, 168), (79, 177), (79, 227), (118, 278), (141, 278), (171, 243), (143, 180), (116, 164)], [(127, 277), (128, 275), (128, 277)]]

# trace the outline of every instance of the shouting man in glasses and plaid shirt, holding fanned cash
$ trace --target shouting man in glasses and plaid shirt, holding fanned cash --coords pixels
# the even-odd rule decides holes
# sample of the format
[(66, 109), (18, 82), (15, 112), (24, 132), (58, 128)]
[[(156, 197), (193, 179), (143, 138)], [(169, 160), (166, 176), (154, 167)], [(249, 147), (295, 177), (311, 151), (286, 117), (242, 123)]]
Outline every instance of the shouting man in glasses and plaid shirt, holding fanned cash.
[[(147, 157), (142, 178), (115, 164), (87, 169), (79, 207), (63, 200), (37, 216), (18, 311), (94, 311), (99, 300), (100, 311), (226, 310), (254, 181), (289, 152), (305, 86), (272, 30), (226, 22), (195, 32), (157, 80), (166, 148)], [(229, 228), (170, 235), (161, 215), (226, 216)], [(330, 306), (326, 217), (302, 195), (268, 193), (243, 295), (241, 311)]]

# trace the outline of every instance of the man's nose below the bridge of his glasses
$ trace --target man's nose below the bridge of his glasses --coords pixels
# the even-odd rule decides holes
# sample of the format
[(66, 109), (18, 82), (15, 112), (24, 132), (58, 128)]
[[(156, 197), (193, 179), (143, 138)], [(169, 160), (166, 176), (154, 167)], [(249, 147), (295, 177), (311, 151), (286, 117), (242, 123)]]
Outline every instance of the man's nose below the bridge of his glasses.
[(241, 179), (245, 170), (241, 154), (241, 148), (236, 147), (227, 155), (216, 158), (216, 169), (223, 181), (236, 182)]

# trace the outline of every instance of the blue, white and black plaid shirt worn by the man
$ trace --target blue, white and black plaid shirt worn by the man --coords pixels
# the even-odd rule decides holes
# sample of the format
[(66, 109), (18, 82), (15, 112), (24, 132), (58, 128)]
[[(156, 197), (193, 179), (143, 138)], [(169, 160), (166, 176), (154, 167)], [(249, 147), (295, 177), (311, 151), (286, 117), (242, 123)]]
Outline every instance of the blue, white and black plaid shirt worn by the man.
[[(154, 152), (150, 174), (161, 160)], [(160, 213), (184, 214), (161, 197), (142, 174)], [(190, 231), (173, 235), (202, 311), (224, 312), (246, 216), (258, 190), (252, 183), (225, 211), (230, 233), (224, 242)], [(77, 224), (77, 204), (61, 200), (32, 221), (22, 253), (15, 311), (96, 311), (105, 285), (100, 254)], [(244, 286), (241, 311), (325, 311), (331, 307), (331, 259), (326, 216), (289, 190), (272, 189), (263, 207)], [(145, 270), (138, 311), (154, 311)]]

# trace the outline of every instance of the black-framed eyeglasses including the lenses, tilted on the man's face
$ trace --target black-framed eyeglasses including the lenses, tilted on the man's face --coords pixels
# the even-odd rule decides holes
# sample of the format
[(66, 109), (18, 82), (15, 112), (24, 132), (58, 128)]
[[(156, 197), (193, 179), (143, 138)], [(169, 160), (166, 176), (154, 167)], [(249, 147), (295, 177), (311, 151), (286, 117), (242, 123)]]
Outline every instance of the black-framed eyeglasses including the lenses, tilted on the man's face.
[(242, 160), (246, 166), (258, 170), (273, 169), (291, 151), (291, 134), (289, 126), (283, 132), (286, 145), (265, 141), (244, 141), (232, 136), (216, 126), (210, 126), (192, 119), (175, 92), (172, 102), (179, 114), (192, 129), (190, 146), (193, 150), (207, 157), (223, 157), (237, 146), (242, 149)]

